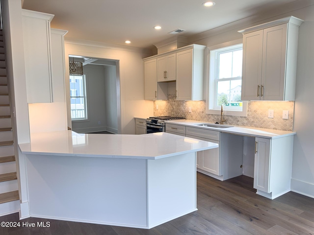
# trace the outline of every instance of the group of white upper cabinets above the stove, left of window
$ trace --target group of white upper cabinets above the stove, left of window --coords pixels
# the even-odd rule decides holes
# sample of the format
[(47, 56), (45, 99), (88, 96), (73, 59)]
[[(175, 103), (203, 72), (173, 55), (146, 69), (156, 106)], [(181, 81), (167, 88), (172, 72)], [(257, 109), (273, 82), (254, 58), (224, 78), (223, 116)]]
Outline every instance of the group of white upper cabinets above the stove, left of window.
[(145, 99), (167, 99), (176, 82), (177, 100), (203, 100), (205, 47), (192, 44), (143, 59)]

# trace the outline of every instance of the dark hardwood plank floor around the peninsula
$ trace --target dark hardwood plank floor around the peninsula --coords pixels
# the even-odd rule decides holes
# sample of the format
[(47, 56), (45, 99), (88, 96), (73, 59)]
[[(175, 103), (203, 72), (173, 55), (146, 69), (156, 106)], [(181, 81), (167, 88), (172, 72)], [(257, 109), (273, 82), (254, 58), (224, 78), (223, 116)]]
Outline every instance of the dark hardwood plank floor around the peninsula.
[[(314, 199), (294, 192), (274, 200), (255, 193), (253, 179), (221, 182), (197, 173), (197, 208), (150, 230), (28, 218), (49, 228), (1, 228), (0, 235), (314, 235)], [(19, 221), (18, 213), (0, 217)]]

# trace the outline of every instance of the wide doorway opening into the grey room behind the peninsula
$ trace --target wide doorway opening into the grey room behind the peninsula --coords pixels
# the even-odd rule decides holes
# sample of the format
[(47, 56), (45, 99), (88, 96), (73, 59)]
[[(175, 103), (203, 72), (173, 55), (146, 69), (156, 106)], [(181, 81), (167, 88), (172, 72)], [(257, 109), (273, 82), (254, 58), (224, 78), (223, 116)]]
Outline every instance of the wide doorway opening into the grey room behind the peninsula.
[(72, 130), (121, 134), (119, 60), (69, 55), (69, 61), (83, 65), (83, 75), (69, 79)]

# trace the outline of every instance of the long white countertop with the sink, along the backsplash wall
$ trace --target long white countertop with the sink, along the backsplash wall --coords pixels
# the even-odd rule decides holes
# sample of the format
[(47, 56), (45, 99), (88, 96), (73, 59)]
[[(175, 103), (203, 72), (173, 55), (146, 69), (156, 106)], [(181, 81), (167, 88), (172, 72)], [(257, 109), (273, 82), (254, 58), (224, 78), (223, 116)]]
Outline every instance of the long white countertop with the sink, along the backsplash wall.
[[(215, 131), (220, 131), (224, 133), (242, 135), (242, 136), (249, 136), (249, 137), (261, 137), (266, 139), (275, 139), (281, 138), (289, 135), (295, 135), (295, 132), (291, 131), (281, 131), (281, 130), (272, 130), (272, 129), (263, 129), (263, 128), (255, 128), (255, 127), (248, 127), (248, 126), (233, 126), (229, 128), (214, 128), (214, 127), (205, 127), (205, 126), (198, 126), (198, 124), (202, 123), (209, 123), (207, 121), (195, 121), (195, 120), (181, 120), (181, 121), (165, 121), (166, 123), (170, 124), (178, 124), (184, 126), (191, 126), (203, 129), (210, 129)], [(213, 124), (213, 123), (209, 123)], [(228, 124), (226, 124), (228, 126)]]

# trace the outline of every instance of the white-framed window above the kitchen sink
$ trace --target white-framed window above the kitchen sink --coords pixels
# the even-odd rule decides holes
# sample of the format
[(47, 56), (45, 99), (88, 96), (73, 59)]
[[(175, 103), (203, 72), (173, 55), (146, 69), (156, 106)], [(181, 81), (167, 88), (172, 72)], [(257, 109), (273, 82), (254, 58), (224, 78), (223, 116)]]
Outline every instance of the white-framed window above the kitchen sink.
[(247, 102), (241, 100), (242, 44), (210, 47), (208, 59), (206, 113), (220, 114), (223, 105), (225, 115), (246, 117)]

